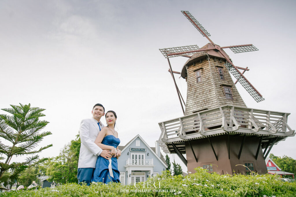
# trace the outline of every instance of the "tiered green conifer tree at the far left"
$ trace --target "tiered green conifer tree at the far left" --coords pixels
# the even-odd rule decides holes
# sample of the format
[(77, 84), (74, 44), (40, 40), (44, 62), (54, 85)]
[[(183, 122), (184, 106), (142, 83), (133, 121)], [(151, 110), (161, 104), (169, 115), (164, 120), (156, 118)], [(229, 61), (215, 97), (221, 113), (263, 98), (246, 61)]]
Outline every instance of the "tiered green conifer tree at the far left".
[[(39, 159), (37, 153), (52, 146), (50, 144), (35, 150), (45, 136), (52, 134), (50, 131), (40, 133), (48, 123), (39, 120), (40, 117), (45, 116), (41, 113), (45, 109), (31, 107), (30, 104), (10, 106), (12, 108), (2, 110), (12, 115), (0, 114), (0, 138), (9, 143), (5, 145), (0, 142), (0, 159), (4, 160), (0, 162), (0, 183), (4, 183), (4, 187), (25, 182), (28, 177), (22, 176), (22, 173), (47, 159)], [(10, 163), (13, 156), (22, 155), (27, 155), (24, 162)]]

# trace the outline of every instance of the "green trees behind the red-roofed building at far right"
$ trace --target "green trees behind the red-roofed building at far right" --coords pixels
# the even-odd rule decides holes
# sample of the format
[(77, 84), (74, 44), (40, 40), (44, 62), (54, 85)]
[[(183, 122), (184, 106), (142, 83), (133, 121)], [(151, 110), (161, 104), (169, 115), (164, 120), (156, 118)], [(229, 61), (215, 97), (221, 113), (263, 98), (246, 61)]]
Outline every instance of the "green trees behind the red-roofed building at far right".
[(276, 165), (281, 168), (282, 171), (296, 174), (296, 160), (292, 157), (288, 157), (287, 155), (278, 157), (272, 153), (269, 155), (269, 157), (274, 163), (276, 163)]

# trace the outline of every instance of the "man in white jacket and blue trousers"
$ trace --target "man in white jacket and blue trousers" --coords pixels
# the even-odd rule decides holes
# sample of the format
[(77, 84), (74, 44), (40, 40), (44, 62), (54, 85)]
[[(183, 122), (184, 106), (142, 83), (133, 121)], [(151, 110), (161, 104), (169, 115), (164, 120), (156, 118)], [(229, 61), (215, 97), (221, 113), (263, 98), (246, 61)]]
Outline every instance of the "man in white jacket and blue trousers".
[[(102, 104), (97, 103), (94, 105), (91, 113), (92, 118), (82, 120), (79, 129), (81, 146), (77, 179), (78, 183), (86, 182), (87, 185), (91, 182), (98, 156), (104, 157), (105, 159), (110, 159), (112, 157), (109, 150), (102, 150), (94, 143), (99, 132), (104, 127), (100, 119), (105, 114), (105, 108)], [(121, 152), (119, 151), (116, 156), (119, 157), (120, 154)]]

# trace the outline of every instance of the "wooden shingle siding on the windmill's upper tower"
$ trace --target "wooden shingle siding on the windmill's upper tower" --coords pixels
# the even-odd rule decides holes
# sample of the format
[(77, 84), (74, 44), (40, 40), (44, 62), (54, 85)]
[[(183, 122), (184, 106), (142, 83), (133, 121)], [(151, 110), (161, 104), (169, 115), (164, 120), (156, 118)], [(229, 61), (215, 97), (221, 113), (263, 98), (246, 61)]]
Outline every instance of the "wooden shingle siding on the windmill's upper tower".
[[(231, 79), (229, 71), (224, 66), (225, 59), (220, 57), (214, 61), (214, 56), (187, 65), (187, 100), (185, 115), (223, 105), (247, 107)], [(220, 61), (221, 59), (221, 61)], [(210, 63), (210, 64), (209, 64)], [(220, 78), (217, 67), (222, 67), (224, 80)], [(195, 72), (200, 69), (201, 82), (197, 83)], [(231, 87), (233, 100), (226, 99), (223, 86)]]

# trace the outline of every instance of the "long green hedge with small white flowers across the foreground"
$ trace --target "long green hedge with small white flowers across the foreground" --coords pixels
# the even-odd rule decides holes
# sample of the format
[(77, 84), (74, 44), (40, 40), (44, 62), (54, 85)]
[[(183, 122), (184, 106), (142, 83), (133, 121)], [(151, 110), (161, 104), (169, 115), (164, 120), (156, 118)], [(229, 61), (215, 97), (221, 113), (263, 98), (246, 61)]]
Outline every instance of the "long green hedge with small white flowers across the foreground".
[[(54, 189), (4, 192), (2, 196), (296, 196), (296, 183), (282, 182), (279, 176), (231, 176), (210, 174), (202, 168), (195, 170), (196, 173), (189, 173), (186, 177), (164, 172), (146, 182), (136, 183), (136, 187), (119, 183), (95, 183), (91, 186), (65, 184)], [(150, 188), (147, 188), (148, 182)], [(152, 185), (153, 182), (157, 188)]]

